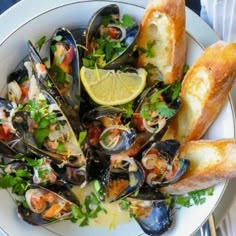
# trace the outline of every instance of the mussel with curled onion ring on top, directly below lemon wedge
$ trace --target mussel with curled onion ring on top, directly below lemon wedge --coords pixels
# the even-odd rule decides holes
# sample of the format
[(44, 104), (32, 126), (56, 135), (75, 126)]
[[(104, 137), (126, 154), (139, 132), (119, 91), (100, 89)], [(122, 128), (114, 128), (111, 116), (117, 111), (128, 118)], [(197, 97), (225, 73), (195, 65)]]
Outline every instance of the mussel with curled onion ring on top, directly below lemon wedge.
[(136, 132), (122, 124), (124, 111), (115, 107), (100, 106), (84, 114), (82, 121), (88, 130), (88, 143), (106, 154), (127, 150), (136, 138)]

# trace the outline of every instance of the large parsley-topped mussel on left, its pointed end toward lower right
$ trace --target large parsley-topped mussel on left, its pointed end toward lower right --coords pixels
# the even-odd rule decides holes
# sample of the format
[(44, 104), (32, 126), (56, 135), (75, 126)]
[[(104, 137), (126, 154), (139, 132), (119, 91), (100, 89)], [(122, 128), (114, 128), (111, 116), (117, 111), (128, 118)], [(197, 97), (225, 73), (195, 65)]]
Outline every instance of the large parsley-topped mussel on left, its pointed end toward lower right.
[(46, 91), (42, 90), (38, 100), (16, 111), (12, 124), (21, 140), (37, 155), (50, 157), (59, 164), (85, 165), (85, 157), (67, 117)]

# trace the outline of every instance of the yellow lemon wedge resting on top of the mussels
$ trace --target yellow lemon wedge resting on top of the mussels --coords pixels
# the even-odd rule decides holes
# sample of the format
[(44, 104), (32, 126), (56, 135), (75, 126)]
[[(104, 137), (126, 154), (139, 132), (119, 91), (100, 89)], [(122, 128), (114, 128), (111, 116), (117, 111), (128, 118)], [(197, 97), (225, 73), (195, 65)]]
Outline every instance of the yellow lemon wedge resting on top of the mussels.
[(82, 67), (80, 78), (85, 90), (100, 105), (121, 105), (135, 99), (146, 85), (147, 72), (122, 72)]

